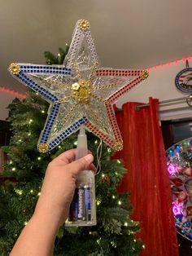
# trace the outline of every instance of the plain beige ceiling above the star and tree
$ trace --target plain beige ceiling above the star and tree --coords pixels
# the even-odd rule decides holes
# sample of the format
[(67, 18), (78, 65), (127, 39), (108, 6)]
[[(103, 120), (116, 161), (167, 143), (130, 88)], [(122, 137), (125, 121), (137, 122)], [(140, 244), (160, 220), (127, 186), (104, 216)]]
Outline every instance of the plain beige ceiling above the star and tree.
[(146, 68), (192, 55), (191, 0), (0, 0), (0, 86), (24, 92), (11, 62), (44, 64), (89, 20), (103, 67)]

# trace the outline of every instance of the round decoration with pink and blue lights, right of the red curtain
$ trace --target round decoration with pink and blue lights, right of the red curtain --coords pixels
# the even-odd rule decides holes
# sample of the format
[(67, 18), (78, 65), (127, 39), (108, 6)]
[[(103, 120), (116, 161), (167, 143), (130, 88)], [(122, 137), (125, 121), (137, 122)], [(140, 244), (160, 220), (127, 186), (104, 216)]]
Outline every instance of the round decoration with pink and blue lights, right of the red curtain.
[(167, 150), (177, 232), (192, 241), (192, 137)]

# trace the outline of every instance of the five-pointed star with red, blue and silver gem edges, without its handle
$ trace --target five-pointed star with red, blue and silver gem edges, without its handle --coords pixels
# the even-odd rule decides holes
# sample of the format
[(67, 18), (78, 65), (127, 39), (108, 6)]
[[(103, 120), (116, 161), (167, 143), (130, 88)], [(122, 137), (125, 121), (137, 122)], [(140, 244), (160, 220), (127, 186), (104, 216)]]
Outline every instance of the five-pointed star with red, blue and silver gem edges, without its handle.
[(12, 63), (9, 71), (50, 103), (40, 152), (55, 148), (80, 126), (121, 150), (113, 104), (148, 77), (146, 70), (102, 68), (87, 20), (77, 21), (63, 65)]

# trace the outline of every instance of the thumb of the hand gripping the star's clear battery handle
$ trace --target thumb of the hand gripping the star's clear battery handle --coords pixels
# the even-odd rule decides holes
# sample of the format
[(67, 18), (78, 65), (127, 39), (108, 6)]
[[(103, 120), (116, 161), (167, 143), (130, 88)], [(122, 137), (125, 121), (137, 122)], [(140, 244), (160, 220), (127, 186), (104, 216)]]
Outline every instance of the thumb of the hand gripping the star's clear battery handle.
[(68, 165), (72, 174), (76, 175), (81, 172), (81, 170), (89, 170), (90, 165), (93, 163), (94, 157), (91, 154), (86, 155), (76, 161), (73, 161), (71, 164)]

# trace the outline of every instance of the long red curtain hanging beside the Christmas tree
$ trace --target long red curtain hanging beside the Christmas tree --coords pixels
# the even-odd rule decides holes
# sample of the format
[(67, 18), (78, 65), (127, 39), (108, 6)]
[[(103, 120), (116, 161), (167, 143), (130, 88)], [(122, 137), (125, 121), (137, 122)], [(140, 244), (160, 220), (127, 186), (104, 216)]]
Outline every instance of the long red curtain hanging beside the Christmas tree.
[(119, 192), (130, 192), (132, 218), (140, 222), (137, 234), (145, 245), (142, 256), (177, 256), (177, 235), (172, 214), (172, 195), (159, 128), (158, 99), (135, 110), (138, 103), (123, 105), (116, 114), (124, 149), (116, 153), (128, 169)]

